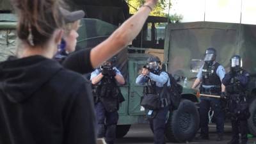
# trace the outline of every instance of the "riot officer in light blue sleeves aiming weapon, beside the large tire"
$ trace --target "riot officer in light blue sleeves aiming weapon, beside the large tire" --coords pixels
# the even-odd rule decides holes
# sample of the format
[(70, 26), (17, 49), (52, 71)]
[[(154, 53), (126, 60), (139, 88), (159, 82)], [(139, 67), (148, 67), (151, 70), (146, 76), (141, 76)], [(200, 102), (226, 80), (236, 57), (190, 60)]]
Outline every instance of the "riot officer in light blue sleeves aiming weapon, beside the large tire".
[[(166, 72), (163, 72), (159, 65), (161, 61), (157, 56), (150, 56), (147, 60), (147, 67), (143, 67), (140, 76), (136, 79), (136, 84), (144, 85), (144, 93), (157, 94), (161, 92), (164, 84), (170, 86), (170, 79)], [(147, 92), (145, 92), (147, 91)], [(154, 132), (154, 144), (164, 144), (164, 129), (168, 110), (170, 109), (170, 100), (167, 97), (161, 98), (159, 109), (147, 109), (147, 115), (150, 117), (150, 128)]]

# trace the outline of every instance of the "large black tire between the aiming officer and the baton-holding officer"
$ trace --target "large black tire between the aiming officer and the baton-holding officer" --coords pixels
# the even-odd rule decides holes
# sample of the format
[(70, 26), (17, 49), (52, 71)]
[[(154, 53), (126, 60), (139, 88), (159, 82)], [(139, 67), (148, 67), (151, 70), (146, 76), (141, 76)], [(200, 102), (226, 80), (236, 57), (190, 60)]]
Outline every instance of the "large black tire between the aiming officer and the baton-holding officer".
[(199, 113), (194, 102), (182, 100), (178, 109), (170, 113), (165, 136), (172, 142), (191, 141), (199, 128)]

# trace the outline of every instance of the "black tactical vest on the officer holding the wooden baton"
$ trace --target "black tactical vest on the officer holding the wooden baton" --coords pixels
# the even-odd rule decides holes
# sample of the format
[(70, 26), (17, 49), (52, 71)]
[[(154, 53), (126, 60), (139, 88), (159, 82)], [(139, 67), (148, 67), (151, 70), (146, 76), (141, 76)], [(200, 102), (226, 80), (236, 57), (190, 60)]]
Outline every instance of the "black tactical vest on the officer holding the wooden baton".
[(202, 69), (202, 84), (205, 86), (214, 85), (216, 87), (221, 86), (220, 77), (217, 75), (216, 71), (220, 66), (219, 63), (215, 63), (209, 68)]

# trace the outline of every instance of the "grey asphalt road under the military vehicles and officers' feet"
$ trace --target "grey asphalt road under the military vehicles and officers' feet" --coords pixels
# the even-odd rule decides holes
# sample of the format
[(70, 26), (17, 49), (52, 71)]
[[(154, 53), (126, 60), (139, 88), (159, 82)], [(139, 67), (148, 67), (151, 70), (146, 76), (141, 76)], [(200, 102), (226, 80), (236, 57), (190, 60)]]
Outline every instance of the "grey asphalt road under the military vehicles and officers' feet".
[[(210, 140), (193, 140), (188, 143), (207, 143), (207, 144), (224, 144), (227, 143), (231, 138), (231, 126), (225, 125), (225, 134), (223, 141), (216, 141), (215, 125), (210, 125)], [(116, 144), (152, 144), (153, 134), (149, 128), (149, 125), (132, 125), (128, 134), (121, 139), (116, 141)], [(166, 142), (170, 144), (170, 142)], [(248, 144), (256, 144), (256, 138), (249, 138)]]

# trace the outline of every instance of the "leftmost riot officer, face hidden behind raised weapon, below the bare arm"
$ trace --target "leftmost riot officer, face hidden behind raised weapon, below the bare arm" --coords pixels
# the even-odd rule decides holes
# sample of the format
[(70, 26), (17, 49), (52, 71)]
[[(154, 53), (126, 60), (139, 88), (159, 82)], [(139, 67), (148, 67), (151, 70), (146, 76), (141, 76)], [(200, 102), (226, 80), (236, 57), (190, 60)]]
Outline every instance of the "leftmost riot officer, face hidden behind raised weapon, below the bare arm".
[(117, 111), (119, 103), (123, 101), (120, 99), (121, 93), (116, 83), (125, 83), (121, 72), (113, 67), (114, 62), (115, 57), (104, 62), (91, 74), (97, 117), (97, 137), (106, 138), (108, 144), (115, 143)]

